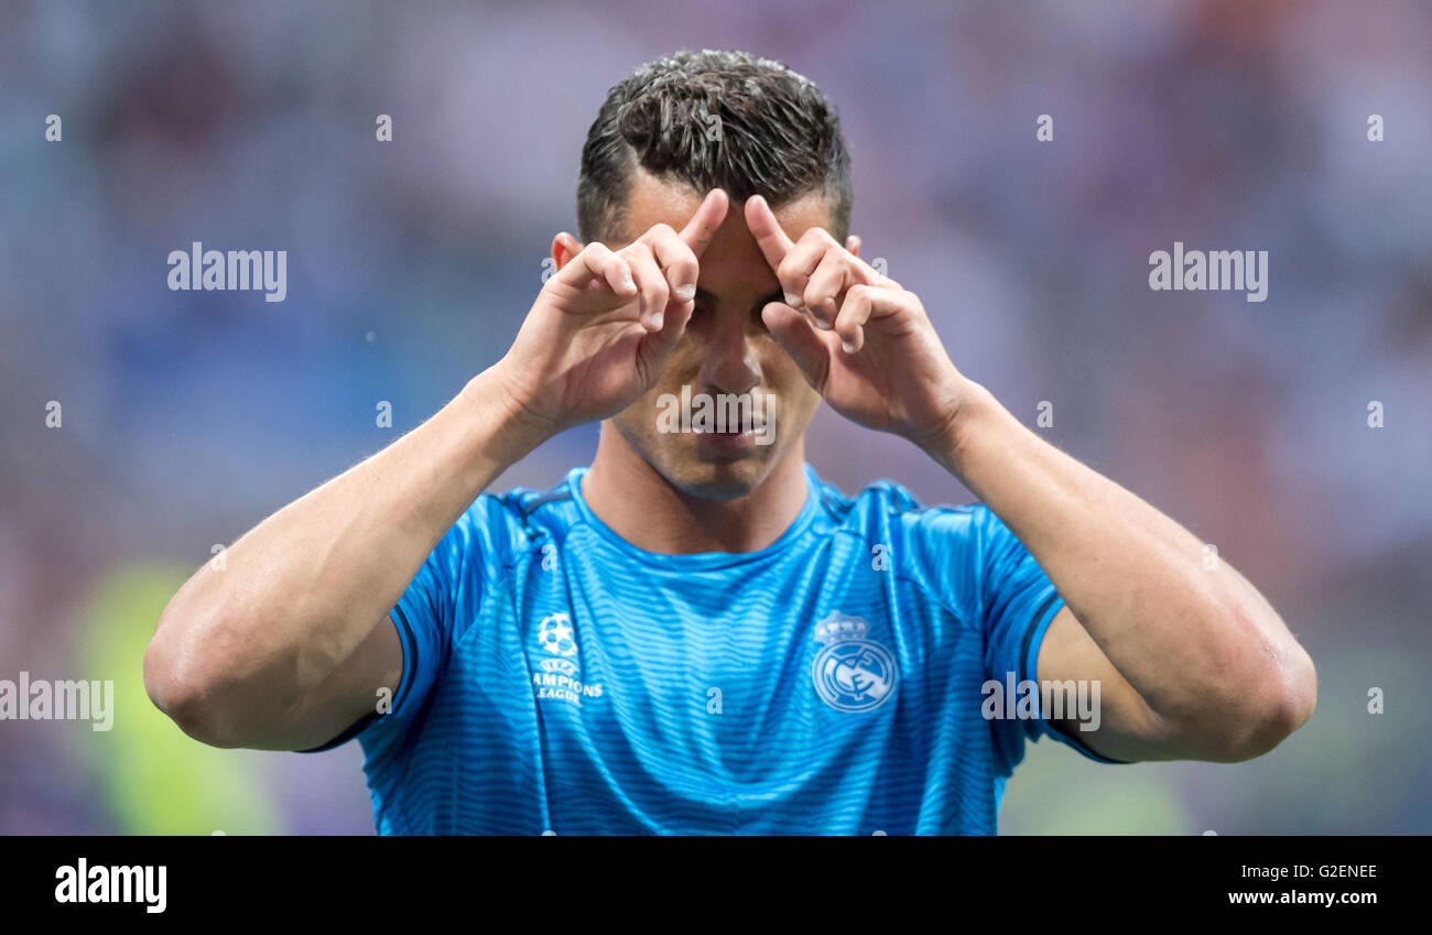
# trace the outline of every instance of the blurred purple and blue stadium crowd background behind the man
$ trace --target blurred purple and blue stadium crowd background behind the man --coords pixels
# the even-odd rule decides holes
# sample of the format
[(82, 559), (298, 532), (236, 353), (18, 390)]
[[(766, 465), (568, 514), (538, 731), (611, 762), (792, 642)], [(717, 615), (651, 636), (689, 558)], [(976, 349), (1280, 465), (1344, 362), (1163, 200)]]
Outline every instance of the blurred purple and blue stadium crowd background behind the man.
[[(357, 745), (189, 742), (143, 696), (145, 641), (213, 544), (503, 354), (606, 89), (680, 47), (816, 80), (865, 255), (957, 365), (1027, 422), (1051, 401), (1051, 441), (1214, 543), (1317, 662), (1272, 755), (1037, 745), (1001, 829), (1432, 830), (1429, 26), (1415, 1), (0, 6), (0, 677), (113, 679), (117, 707), (109, 733), (0, 722), (0, 832), (372, 832)], [(170, 292), (192, 241), (286, 249), (288, 299)], [(1269, 251), (1267, 301), (1151, 292), (1174, 241)], [(809, 460), (969, 498), (829, 412)]]

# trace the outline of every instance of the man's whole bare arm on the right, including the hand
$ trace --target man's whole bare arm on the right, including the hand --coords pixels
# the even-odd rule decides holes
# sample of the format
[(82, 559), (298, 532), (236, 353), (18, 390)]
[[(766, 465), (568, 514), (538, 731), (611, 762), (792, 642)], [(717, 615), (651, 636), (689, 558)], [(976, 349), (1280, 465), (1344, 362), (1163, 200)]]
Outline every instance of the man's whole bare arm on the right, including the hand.
[(1071, 730), (1111, 759), (1240, 760), (1312, 714), (1316, 673), (1269, 603), (1171, 518), (1024, 428), (955, 369), (919, 298), (851, 238), (793, 242), (766, 202), (746, 222), (789, 302), (762, 316), (842, 415), (902, 435), (984, 500), (1065, 607), (1040, 679), (1100, 682), (1101, 726)]

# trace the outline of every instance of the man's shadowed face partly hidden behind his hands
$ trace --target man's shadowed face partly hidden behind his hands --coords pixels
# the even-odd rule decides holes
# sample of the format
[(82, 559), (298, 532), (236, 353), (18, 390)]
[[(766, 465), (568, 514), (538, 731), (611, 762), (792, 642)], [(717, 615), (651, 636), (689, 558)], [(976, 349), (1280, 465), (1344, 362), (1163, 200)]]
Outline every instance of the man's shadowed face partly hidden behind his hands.
[[(639, 173), (627, 202), (623, 245), (657, 223), (680, 231), (705, 195)], [(782, 292), (746, 228), (743, 205), (730, 203), (700, 256), (696, 311), (666, 369), (646, 395), (611, 418), (621, 440), (670, 484), (710, 500), (743, 497), (785, 458), (805, 457), (802, 438), (821, 404), (821, 395), (760, 319), (760, 309), (779, 302)], [(792, 239), (831, 223), (822, 195), (773, 210)], [(702, 425), (703, 408), (710, 425)], [(683, 422), (683, 410), (690, 422)], [(740, 425), (733, 424), (737, 418)], [(727, 431), (693, 431), (696, 427)]]

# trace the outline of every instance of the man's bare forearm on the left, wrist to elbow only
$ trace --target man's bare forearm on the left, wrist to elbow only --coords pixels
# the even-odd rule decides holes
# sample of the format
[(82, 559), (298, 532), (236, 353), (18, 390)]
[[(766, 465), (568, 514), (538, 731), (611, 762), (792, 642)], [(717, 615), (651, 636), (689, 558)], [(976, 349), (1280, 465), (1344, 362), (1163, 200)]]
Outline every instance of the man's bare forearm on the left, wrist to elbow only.
[[(284, 507), (170, 600), (146, 657), (156, 696), (274, 717), (402, 596), (473, 500), (541, 435), (494, 371), (371, 458)], [(156, 697), (159, 700), (159, 697)]]

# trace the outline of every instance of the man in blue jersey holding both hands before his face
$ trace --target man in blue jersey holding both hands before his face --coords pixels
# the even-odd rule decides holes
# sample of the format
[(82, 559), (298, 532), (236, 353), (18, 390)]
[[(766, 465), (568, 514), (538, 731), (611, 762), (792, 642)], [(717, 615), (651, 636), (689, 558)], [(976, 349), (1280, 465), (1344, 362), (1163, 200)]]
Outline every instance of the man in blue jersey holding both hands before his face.
[[(644, 66), (577, 199), (586, 242), (553, 239), (500, 362), (170, 601), (145, 679), (185, 732), (357, 736), (379, 832), (992, 833), (1027, 737), (1233, 762), (1309, 717), (1253, 586), (1025, 430), (859, 259), (811, 82)], [(982, 504), (823, 484), (822, 399)], [(593, 420), (589, 470), (483, 494)]]

